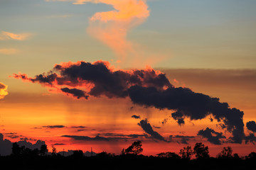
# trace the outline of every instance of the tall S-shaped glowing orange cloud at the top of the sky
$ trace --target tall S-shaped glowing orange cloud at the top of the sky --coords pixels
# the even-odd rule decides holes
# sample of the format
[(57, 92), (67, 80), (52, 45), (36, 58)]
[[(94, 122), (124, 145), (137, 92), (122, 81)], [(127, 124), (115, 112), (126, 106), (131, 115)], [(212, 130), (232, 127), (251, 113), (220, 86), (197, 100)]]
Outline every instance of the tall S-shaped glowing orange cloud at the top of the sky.
[(130, 55), (139, 57), (138, 47), (127, 40), (129, 30), (143, 23), (149, 17), (146, 0), (46, 0), (72, 1), (73, 4), (111, 5), (114, 10), (95, 13), (90, 18), (87, 33), (109, 46), (117, 55), (119, 61), (124, 62)]

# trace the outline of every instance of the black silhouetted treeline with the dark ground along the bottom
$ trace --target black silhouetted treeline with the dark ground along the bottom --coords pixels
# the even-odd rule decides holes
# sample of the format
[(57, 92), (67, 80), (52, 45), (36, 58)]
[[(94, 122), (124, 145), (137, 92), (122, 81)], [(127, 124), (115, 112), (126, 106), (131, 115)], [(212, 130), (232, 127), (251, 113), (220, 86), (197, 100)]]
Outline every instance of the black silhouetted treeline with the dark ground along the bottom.
[[(68, 157), (55, 147), (48, 152), (48, 147), (28, 149), (13, 144), (12, 154), (0, 157), (1, 167), (8, 169), (255, 169), (256, 153), (246, 157), (233, 154), (231, 147), (224, 147), (216, 156), (210, 157), (208, 147), (196, 143), (194, 147), (183, 147), (178, 154), (162, 152), (156, 156), (142, 154), (142, 142), (134, 142), (121, 154), (101, 152), (95, 156), (85, 157), (82, 150), (76, 150)], [(195, 155), (196, 159), (191, 159)]]

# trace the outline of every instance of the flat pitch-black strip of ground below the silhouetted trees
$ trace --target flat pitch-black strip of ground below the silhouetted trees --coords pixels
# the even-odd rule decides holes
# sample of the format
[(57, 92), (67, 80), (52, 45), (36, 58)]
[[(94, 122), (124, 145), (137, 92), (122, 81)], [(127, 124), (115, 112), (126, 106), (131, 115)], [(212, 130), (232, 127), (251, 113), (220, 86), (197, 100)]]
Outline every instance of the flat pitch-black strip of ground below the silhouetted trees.
[(255, 169), (256, 158), (240, 159), (181, 159), (146, 157), (144, 155), (108, 155), (80, 157), (6, 156), (0, 157), (1, 167), (7, 169)]

